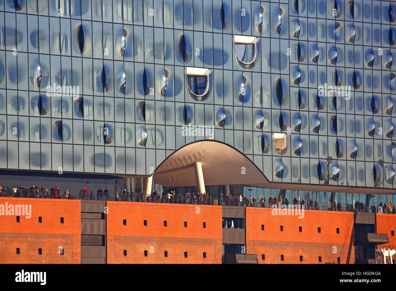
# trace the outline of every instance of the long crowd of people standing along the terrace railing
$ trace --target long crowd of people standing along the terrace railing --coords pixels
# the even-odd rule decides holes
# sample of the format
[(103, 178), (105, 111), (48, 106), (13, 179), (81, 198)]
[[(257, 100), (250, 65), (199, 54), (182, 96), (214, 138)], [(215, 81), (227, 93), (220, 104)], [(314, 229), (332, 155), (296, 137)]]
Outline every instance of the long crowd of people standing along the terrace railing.
[[(121, 193), (118, 190), (115, 190), (114, 193), (109, 192), (108, 188), (99, 188), (96, 191), (96, 195), (93, 191), (88, 195), (88, 190), (86, 187), (84, 189), (80, 189), (77, 194), (77, 197), (73, 197), (72, 193), (66, 188), (65, 190), (61, 190), (59, 187), (52, 186), (50, 189), (46, 188), (44, 185), (41, 187), (32, 185), (25, 186), (19, 185), (14, 188), (9, 188), (8, 186), (4, 186), (4, 184), (0, 185), (0, 196), (13, 196), (13, 197), (23, 197), (23, 198), (51, 198), (51, 199), (82, 199), (82, 200), (114, 200), (114, 201), (129, 201), (129, 202), (152, 202), (152, 203), (177, 203), (177, 204), (200, 204), (200, 205), (227, 205), (227, 206), (249, 206), (256, 207), (256, 198), (254, 196), (250, 196), (247, 198), (243, 194), (232, 195), (232, 194), (219, 194), (219, 197), (214, 197), (211, 200), (211, 196), (209, 193), (195, 193), (195, 192), (186, 192), (184, 195), (171, 191), (163, 191), (162, 194), (157, 191), (152, 192), (150, 195), (145, 197), (142, 191), (134, 193), (133, 191), (129, 192), (124, 189)], [(111, 196), (111, 197), (110, 197)], [(303, 199), (299, 200), (294, 198), (291, 202), (293, 207), (301, 208), (301, 209), (312, 209), (312, 210), (333, 210), (333, 211), (343, 211), (343, 205), (340, 202), (326, 202), (322, 203), (324, 207), (321, 209), (320, 204), (317, 200), (313, 201), (312, 198), (307, 198), (307, 201)], [(282, 207), (282, 205), (289, 206), (289, 200), (284, 198), (284, 200), (278, 200), (278, 197), (270, 196), (267, 199), (265, 196), (262, 196), (258, 203), (257, 207)], [(356, 211), (356, 212), (379, 212), (379, 213), (393, 213), (393, 205), (392, 201), (389, 201), (388, 204), (382, 202), (375, 207), (372, 205), (369, 207), (365, 205), (361, 201), (356, 201), (354, 204), (354, 209), (352, 209), (352, 205), (346, 205), (346, 211)], [(344, 210), (344, 211), (345, 211)]]

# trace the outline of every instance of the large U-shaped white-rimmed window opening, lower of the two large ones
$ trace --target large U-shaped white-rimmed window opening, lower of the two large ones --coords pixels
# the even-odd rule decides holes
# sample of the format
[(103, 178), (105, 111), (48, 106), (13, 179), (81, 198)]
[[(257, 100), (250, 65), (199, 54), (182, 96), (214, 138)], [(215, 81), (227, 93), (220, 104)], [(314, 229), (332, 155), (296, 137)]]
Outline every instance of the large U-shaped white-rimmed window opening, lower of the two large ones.
[(209, 96), (209, 74), (206, 68), (186, 67), (188, 91), (195, 101), (205, 101)]

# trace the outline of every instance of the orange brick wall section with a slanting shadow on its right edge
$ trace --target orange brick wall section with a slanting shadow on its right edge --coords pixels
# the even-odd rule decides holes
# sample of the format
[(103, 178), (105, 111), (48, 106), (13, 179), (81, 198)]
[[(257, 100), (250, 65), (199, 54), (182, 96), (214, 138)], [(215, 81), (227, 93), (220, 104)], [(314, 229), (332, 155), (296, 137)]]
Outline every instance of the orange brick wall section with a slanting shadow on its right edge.
[(322, 263), (337, 263), (337, 257), (341, 264), (354, 263), (353, 213), (305, 210), (304, 218), (299, 219), (298, 215), (272, 215), (271, 211), (246, 207), (246, 253), (257, 254), (259, 263), (319, 263), (318, 257)]

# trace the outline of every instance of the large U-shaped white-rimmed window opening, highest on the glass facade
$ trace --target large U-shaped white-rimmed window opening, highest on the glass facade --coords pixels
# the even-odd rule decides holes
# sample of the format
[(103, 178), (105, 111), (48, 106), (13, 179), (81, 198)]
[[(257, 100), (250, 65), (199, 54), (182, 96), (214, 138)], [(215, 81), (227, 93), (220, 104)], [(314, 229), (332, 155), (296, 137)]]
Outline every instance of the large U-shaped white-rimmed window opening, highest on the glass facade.
[(235, 55), (241, 67), (249, 69), (255, 65), (257, 42), (259, 38), (255, 36), (234, 35)]

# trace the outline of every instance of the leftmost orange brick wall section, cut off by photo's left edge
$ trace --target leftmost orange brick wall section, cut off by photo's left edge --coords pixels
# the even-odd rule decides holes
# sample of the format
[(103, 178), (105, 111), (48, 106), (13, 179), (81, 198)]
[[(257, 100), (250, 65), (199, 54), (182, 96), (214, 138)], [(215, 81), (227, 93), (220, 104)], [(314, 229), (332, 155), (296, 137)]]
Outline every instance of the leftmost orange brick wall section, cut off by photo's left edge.
[[(0, 197), (0, 205), (6, 202), (31, 205), (31, 217), (20, 216), (17, 223), (16, 215), (0, 215), (0, 263), (81, 262), (80, 200)], [(38, 217), (42, 217), (42, 223)], [(59, 246), (64, 249), (63, 255), (58, 252)]]

